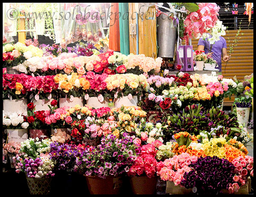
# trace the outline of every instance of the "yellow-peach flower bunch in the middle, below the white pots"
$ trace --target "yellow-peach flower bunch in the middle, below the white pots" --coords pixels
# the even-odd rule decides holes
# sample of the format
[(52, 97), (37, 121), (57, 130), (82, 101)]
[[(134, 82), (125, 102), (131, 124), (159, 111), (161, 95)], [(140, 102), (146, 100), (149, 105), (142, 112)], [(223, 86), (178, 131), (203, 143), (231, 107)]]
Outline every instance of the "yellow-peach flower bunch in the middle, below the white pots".
[(140, 107), (122, 106), (120, 108), (111, 109), (111, 116), (113, 116), (113, 120), (116, 121), (116, 129), (119, 130), (120, 134), (128, 132), (133, 135), (140, 118), (144, 118), (146, 116), (146, 112), (141, 110)]

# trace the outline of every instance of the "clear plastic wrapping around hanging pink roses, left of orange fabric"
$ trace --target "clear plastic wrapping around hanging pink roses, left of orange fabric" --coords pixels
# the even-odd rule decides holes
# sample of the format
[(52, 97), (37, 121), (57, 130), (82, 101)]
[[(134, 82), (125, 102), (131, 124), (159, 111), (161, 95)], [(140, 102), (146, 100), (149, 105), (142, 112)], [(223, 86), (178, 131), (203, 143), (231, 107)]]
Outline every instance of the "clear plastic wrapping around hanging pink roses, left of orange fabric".
[(104, 37), (100, 11), (86, 3), (64, 3), (61, 7), (61, 47), (80, 40), (96, 44)]

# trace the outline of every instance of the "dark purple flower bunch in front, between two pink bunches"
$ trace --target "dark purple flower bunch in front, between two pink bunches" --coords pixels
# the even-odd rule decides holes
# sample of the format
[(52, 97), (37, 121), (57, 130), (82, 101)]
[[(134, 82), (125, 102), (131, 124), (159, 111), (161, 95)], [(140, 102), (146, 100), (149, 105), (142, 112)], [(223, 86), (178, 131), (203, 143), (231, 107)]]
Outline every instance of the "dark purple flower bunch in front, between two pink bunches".
[(234, 183), (235, 166), (227, 159), (216, 156), (201, 157), (191, 163), (192, 171), (185, 172), (180, 185), (193, 188), (198, 194), (218, 194), (221, 189), (228, 189)]

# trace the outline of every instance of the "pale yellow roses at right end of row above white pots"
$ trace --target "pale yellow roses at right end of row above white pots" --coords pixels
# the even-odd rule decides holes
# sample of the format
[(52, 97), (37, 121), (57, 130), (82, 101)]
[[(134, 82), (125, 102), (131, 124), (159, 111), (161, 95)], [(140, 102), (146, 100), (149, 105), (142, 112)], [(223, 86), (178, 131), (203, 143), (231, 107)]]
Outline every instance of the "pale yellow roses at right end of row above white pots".
[(147, 91), (148, 82), (143, 74), (135, 75), (128, 74), (114, 74), (109, 75), (105, 82), (107, 83), (107, 90), (111, 91), (110, 98), (119, 98), (122, 96), (142, 96), (143, 91)]

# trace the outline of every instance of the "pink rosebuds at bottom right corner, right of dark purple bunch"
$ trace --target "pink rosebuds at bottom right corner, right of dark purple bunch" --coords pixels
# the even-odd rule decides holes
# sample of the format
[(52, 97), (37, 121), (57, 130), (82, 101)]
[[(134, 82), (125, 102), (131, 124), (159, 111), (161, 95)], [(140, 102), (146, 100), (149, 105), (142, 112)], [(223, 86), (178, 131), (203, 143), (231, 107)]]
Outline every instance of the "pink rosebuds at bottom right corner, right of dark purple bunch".
[(230, 193), (237, 192), (240, 186), (244, 186), (247, 183), (247, 177), (253, 177), (253, 157), (246, 155), (239, 156), (232, 161), (236, 167), (234, 172), (236, 175), (233, 177), (235, 183), (229, 185)]

